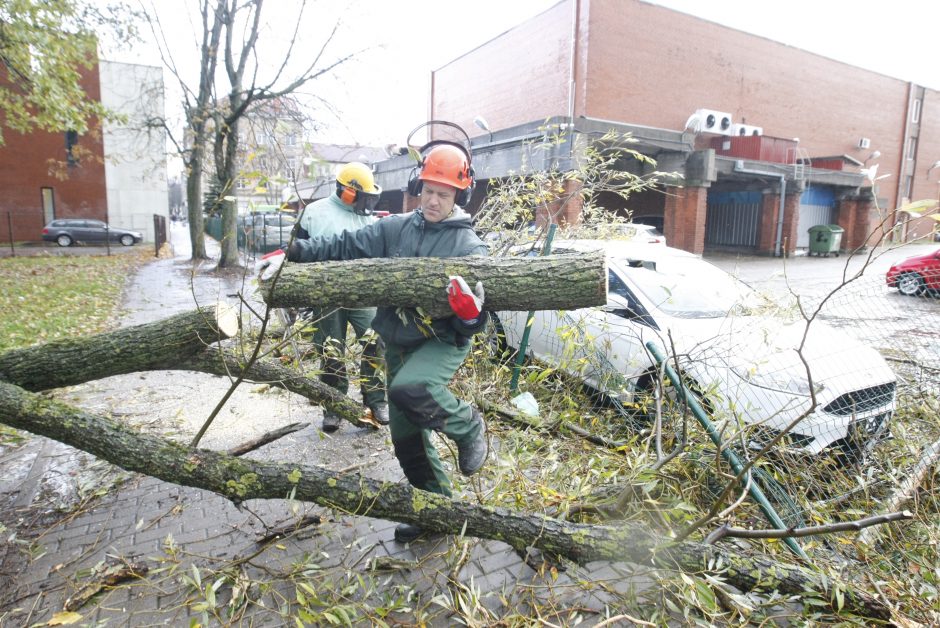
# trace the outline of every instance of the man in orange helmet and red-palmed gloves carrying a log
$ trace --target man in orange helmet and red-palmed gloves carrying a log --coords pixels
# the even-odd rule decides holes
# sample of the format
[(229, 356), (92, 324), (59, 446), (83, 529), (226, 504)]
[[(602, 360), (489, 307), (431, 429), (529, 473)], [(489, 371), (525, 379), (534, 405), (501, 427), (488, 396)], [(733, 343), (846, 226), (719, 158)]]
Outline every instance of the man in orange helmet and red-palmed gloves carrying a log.
[[(408, 192), (421, 198), (417, 210), (354, 232), (295, 240), (288, 260), (486, 255), (486, 245), (461, 208), (473, 190), (469, 151), (450, 142), (432, 142), (425, 149), (408, 182)], [(280, 263), (283, 256), (275, 260)], [(389, 429), (395, 456), (413, 486), (449, 496), (450, 481), (430, 432), (436, 430), (456, 443), (462, 474), (472, 475), (483, 466), (487, 455), (483, 417), (447, 385), (470, 352), (470, 338), (486, 326), (487, 314), (481, 283), (471, 291), (462, 277), (450, 277), (447, 295), (453, 311), (450, 316), (428, 318), (413, 309), (380, 307), (372, 328), (386, 345)], [(407, 543), (422, 532), (419, 526), (403, 523), (395, 529), (395, 540)]]

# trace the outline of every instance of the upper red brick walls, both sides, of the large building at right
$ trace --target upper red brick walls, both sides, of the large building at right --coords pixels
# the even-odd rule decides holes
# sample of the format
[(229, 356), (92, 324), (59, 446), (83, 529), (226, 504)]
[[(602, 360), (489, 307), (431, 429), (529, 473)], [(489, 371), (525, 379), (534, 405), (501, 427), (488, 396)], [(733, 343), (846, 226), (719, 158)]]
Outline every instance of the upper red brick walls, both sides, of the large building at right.
[[(434, 115), (466, 128), (483, 115), (493, 129), (566, 115), (575, 1), (435, 72)], [(879, 173), (894, 175), (881, 194), (895, 203), (908, 83), (639, 0), (579, 2), (575, 116), (681, 129), (708, 108), (799, 137), (811, 156), (864, 161), (877, 149)], [(938, 100), (928, 90), (919, 177), (940, 159)], [(858, 148), (862, 137), (870, 148)], [(928, 195), (925, 185), (915, 197)]]

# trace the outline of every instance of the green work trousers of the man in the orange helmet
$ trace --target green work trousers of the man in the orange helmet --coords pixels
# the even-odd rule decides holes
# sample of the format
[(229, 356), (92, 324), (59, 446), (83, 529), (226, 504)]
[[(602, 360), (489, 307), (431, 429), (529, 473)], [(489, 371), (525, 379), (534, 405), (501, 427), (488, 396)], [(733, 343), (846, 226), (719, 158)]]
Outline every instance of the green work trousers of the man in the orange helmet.
[(447, 388), (470, 352), (426, 340), (417, 347), (385, 348), (389, 430), (395, 457), (412, 486), (450, 496), (450, 480), (431, 443), (436, 430), (455, 443), (476, 438), (482, 428), (473, 409)]

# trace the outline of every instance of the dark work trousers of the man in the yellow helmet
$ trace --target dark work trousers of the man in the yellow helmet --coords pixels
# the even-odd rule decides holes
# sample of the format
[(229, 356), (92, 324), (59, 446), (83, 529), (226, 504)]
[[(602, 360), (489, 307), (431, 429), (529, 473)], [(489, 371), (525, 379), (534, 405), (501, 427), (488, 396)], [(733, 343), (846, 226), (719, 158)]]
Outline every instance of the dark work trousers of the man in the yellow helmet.
[[(314, 311), (311, 321), (316, 325), (313, 344), (320, 353), (320, 381), (335, 388), (344, 395), (349, 390), (349, 376), (346, 372), (346, 331), (352, 325), (356, 339), (360, 342), (372, 319), (375, 308), (339, 308), (336, 310)], [(382, 381), (382, 349), (384, 344), (374, 336), (362, 348), (359, 362), (359, 390), (363, 403), (372, 406), (385, 403), (385, 382)]]

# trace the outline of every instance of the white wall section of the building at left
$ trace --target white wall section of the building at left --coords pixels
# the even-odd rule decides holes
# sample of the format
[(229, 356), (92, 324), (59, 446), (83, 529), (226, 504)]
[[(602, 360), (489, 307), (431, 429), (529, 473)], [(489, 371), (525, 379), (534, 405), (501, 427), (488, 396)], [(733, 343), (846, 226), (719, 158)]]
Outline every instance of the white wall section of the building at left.
[(166, 132), (147, 121), (164, 117), (163, 70), (156, 66), (101, 61), (101, 102), (126, 116), (104, 127), (108, 221), (154, 241), (154, 214), (167, 219)]

